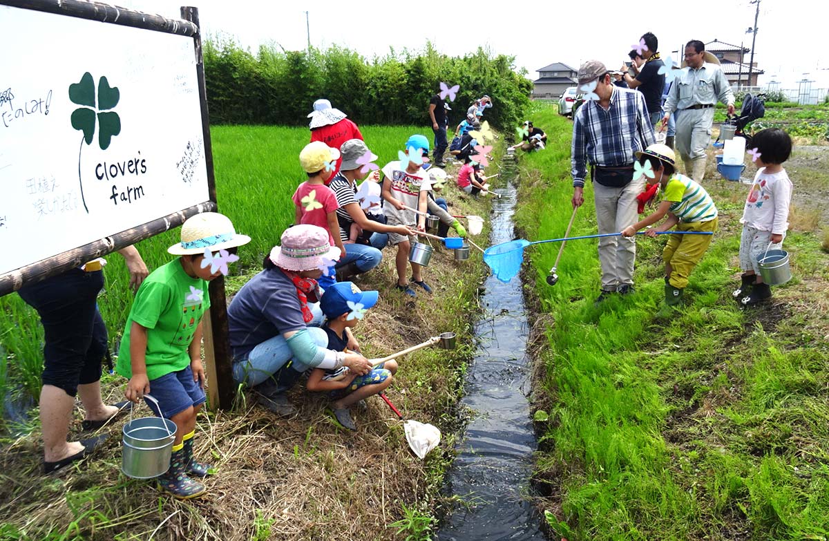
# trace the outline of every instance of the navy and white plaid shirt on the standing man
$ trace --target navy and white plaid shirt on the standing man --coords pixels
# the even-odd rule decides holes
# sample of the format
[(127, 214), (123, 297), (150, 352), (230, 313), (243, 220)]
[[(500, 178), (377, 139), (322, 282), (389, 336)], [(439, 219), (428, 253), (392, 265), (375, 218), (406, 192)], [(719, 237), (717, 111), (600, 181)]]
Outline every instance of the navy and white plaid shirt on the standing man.
[(587, 164), (625, 167), (634, 153), (654, 143), (642, 92), (613, 87), (608, 110), (596, 100), (585, 101), (573, 121), (573, 186), (583, 187)]

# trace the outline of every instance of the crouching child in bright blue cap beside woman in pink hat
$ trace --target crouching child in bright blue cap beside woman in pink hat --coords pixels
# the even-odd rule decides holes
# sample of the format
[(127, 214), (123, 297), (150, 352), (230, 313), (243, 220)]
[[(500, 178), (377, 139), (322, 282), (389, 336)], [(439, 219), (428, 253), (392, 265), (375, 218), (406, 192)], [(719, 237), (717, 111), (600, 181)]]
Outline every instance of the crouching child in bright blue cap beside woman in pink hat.
[[(376, 291), (361, 291), (352, 282), (337, 282), (325, 290), (319, 307), (328, 319), (322, 329), (328, 335), (329, 349), (359, 351), (360, 344), (351, 334), (351, 329), (356, 327), (366, 310), (376, 304), (377, 295)], [(308, 376), (306, 387), (308, 391), (332, 392), (335, 401), (326, 409), (326, 413), (338, 425), (356, 431), (357, 427), (348, 408), (366, 397), (383, 392), (385, 387), (389, 387), (395, 372), (395, 361), (386, 361), (364, 376), (349, 373), (345, 367), (336, 370), (314, 368)]]

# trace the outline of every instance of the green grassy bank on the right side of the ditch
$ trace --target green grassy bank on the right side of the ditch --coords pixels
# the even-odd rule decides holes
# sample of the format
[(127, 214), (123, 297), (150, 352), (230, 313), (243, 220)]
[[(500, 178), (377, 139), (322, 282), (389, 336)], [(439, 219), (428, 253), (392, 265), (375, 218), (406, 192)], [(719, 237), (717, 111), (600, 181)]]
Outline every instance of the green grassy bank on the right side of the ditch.
[[(555, 108), (532, 118), (550, 144), (521, 157), (516, 222), (536, 240), (561, 236), (570, 219), (572, 124)], [(789, 172), (796, 192), (808, 182), (798, 172)], [(670, 321), (654, 319), (663, 239), (638, 240), (637, 293), (599, 306), (595, 241), (566, 246), (552, 287), (558, 246), (526, 253), (526, 287), (547, 316), (536, 326), (534, 396), (550, 413), (537, 425), (536, 480), (557, 536), (829, 536), (829, 256), (815, 231), (791, 231), (793, 280), (773, 288), (771, 304), (740, 311), (730, 292), (748, 187), (713, 176), (705, 187), (720, 232)], [(575, 235), (596, 231), (585, 193)]]

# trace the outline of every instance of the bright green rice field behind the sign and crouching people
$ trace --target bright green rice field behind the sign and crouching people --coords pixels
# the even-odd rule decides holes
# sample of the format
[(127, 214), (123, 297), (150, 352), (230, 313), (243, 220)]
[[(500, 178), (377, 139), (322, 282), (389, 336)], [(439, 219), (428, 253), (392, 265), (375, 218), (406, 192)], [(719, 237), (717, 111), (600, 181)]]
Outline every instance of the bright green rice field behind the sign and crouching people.
[[(411, 134), (424, 134), (429, 141), (433, 138), (430, 130), (414, 126), (365, 126), (361, 133), (380, 157), (376, 162), (380, 167), (397, 159), (397, 151)], [(230, 217), (237, 232), (252, 238), (240, 249), (240, 261), (230, 266), (232, 281), (246, 270), (260, 268), (264, 256), (293, 223), (291, 196), (307, 178), (298, 156), (310, 132), (282, 126), (214, 126), (211, 139), (219, 212)], [(136, 245), (150, 270), (170, 261), (167, 247), (179, 240), (179, 232), (176, 228)], [(112, 254), (107, 260), (99, 308), (115, 347), (133, 295), (124, 259)], [(43, 328), (36, 312), (16, 294), (0, 297), (0, 399), (9, 392), (25, 397), (23, 402), (39, 395), (42, 343)]]

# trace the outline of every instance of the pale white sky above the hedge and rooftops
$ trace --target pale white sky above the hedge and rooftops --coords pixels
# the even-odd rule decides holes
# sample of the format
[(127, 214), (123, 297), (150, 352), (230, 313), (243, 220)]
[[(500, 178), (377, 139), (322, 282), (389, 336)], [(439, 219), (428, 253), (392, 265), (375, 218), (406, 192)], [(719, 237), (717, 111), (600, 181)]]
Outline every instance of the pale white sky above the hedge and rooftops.
[[(182, 5), (171, 0), (115, 3), (167, 17), (179, 17)], [(752, 35), (746, 30), (754, 27), (755, 13), (749, 0), (647, 4), (618, 0), (422, 4), (192, 0), (192, 4), (199, 8), (204, 35), (230, 37), (254, 52), (260, 44), (278, 44), (286, 50), (305, 48), (308, 11), (311, 44), (318, 48), (337, 44), (371, 58), (384, 56), (391, 48), (416, 51), (426, 41), (450, 56), (463, 56), (484, 46), (496, 54), (515, 56), (516, 68), (525, 68), (531, 78), (552, 62), (578, 69), (581, 62), (598, 58), (608, 68), (617, 69), (644, 32), (657, 35), (663, 56), (691, 39), (708, 42), (716, 38), (734, 45), (744, 41), (750, 47)], [(648, 7), (637, 9), (643, 4)], [(583, 6), (580, 12), (579, 6)], [(795, 81), (807, 73), (805, 77), (815, 81), (814, 88), (829, 88), (829, 55), (821, 42), (825, 41), (821, 38), (827, 32), (827, 16), (825, 0), (761, 0), (754, 55), (765, 71), (760, 85), (778, 80), (782, 88), (796, 88)], [(655, 24), (657, 19), (662, 22)]]

